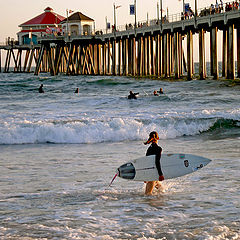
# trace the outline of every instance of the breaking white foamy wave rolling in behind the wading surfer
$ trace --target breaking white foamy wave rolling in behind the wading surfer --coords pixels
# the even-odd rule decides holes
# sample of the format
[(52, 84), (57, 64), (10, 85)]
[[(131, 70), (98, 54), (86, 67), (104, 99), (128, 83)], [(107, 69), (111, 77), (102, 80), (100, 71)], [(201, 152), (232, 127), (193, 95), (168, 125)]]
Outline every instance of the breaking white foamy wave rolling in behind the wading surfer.
[(82, 118), (79, 120), (16, 121), (0, 124), (0, 144), (100, 143), (144, 140), (156, 130), (160, 139), (194, 136), (216, 129), (240, 128), (224, 118), (157, 117), (153, 119)]

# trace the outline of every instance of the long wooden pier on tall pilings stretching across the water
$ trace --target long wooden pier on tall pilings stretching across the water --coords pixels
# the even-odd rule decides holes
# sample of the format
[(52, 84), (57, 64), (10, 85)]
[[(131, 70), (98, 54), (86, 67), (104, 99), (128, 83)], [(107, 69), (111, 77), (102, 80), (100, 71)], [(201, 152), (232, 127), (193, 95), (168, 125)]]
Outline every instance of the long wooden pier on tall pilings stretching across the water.
[[(222, 42), (222, 76), (227, 79), (240, 77), (240, 10), (202, 15), (190, 19), (180, 15), (166, 21), (154, 20), (139, 26), (126, 25), (111, 33), (79, 36), (48, 36), (39, 39), (39, 45), (0, 46), (6, 50), (4, 72), (9, 72), (12, 58), (14, 72), (34, 74), (50, 72), (51, 75), (123, 75), (156, 78), (187, 76), (193, 79), (207, 77), (206, 33), (210, 34), (210, 65), (213, 79), (219, 78), (218, 41)], [(218, 32), (222, 31), (219, 39)], [(235, 33), (237, 34), (235, 38)], [(193, 46), (193, 37), (198, 46)], [(235, 39), (237, 42), (235, 43)], [(186, 46), (184, 48), (184, 43)], [(237, 49), (234, 49), (234, 48)], [(186, 49), (186, 51), (184, 51)], [(14, 54), (14, 51), (17, 54)], [(237, 50), (237, 51), (236, 51)], [(198, 51), (199, 72), (194, 73), (193, 54)], [(236, 56), (235, 51), (237, 52)], [(25, 53), (24, 63), (21, 56)], [(0, 58), (1, 59), (1, 58)], [(237, 69), (235, 69), (235, 60)], [(1, 61), (0, 61), (1, 67)], [(235, 76), (237, 73), (237, 76)]]

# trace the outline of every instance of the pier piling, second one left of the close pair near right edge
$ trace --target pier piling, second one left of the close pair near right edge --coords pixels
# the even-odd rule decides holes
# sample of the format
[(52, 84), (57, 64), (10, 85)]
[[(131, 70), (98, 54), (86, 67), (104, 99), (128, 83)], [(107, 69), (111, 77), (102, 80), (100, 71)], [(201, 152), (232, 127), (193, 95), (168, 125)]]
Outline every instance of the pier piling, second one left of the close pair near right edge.
[(206, 79), (206, 60), (205, 60), (205, 32), (199, 30), (199, 76)]

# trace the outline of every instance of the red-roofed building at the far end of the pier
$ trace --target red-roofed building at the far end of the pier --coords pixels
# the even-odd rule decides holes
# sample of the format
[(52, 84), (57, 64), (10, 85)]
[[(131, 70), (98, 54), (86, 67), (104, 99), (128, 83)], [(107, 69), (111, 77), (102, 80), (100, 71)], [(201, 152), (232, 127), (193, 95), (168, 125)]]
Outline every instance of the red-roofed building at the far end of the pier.
[(65, 17), (53, 12), (53, 9), (47, 7), (44, 13), (19, 25), (21, 31), (18, 32), (19, 44), (37, 43), (37, 37), (47, 33), (61, 32), (61, 24)]

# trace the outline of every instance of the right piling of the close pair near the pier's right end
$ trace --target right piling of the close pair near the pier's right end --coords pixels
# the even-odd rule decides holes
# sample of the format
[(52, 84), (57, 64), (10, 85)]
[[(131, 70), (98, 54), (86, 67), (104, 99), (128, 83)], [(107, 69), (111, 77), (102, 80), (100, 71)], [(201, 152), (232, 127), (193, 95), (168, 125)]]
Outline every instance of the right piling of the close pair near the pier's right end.
[(234, 62), (234, 24), (228, 27), (228, 68), (227, 78), (235, 78), (235, 62)]

